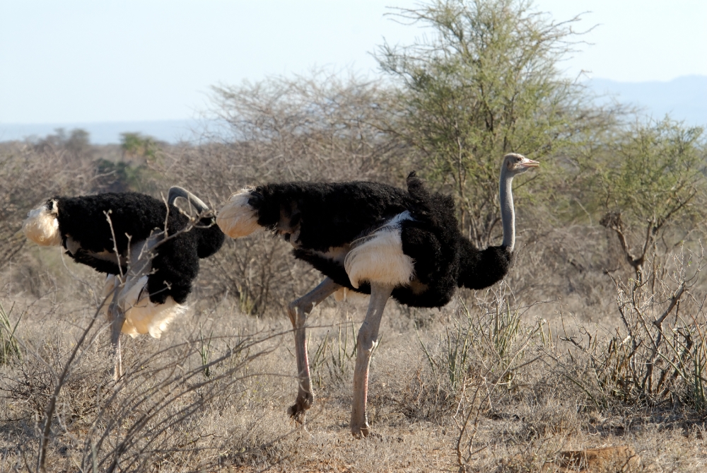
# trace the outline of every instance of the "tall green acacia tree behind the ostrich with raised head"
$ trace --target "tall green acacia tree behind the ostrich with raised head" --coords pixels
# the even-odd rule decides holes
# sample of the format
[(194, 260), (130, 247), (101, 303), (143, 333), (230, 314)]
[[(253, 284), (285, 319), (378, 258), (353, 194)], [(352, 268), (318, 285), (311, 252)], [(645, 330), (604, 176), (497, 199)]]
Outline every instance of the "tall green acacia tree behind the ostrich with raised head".
[(486, 246), (500, 228), (501, 156), (543, 158), (597, 126), (583, 88), (557, 66), (578, 18), (556, 23), (525, 0), (436, 0), (396, 16), (431, 35), (378, 52), (402, 85), (387, 129), (421, 151), (423, 173), (451, 187), (462, 228)]

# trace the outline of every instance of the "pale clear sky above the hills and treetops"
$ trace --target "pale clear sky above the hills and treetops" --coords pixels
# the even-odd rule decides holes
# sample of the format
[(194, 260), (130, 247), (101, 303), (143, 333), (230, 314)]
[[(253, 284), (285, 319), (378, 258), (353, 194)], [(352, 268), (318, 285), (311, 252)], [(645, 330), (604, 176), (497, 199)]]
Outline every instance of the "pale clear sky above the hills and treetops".
[[(408, 0), (0, 0), (0, 124), (184, 119), (209, 86), (305, 73), (375, 74), (385, 37), (420, 34), (383, 14)], [(705, 0), (537, 0), (597, 28), (565, 63), (617, 81), (707, 75)]]

